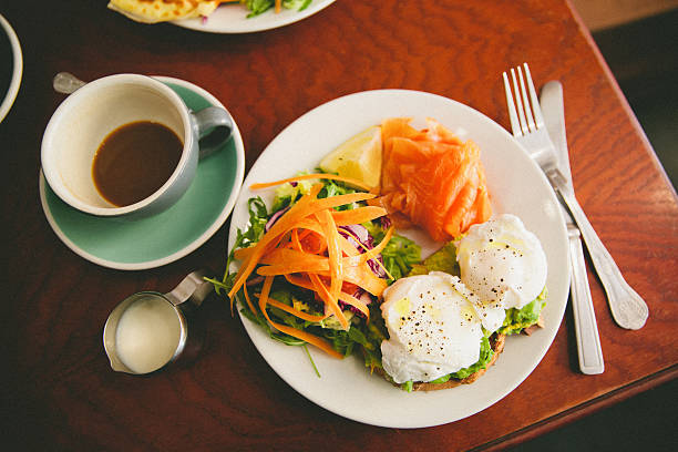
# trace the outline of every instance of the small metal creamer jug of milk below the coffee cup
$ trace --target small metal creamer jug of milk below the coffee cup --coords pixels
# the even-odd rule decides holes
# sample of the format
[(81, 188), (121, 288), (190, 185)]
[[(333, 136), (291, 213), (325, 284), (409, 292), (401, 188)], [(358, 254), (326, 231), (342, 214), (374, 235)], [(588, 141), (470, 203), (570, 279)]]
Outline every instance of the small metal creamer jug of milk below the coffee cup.
[(204, 340), (196, 308), (212, 292), (205, 270), (186, 276), (172, 291), (141, 291), (113, 309), (103, 345), (117, 372), (146, 374), (195, 359)]

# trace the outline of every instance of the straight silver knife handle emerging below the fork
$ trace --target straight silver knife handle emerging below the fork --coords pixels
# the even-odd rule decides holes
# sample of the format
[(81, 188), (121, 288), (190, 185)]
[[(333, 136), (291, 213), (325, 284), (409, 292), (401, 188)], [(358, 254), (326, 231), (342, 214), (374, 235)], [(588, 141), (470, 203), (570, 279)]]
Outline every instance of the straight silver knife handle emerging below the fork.
[(577, 356), (582, 373), (603, 373), (603, 349), (596, 323), (596, 312), (590, 298), (588, 276), (586, 275), (586, 261), (584, 260), (584, 248), (579, 229), (569, 225), (569, 295), (572, 297), (572, 311), (575, 322), (575, 336), (577, 338)]

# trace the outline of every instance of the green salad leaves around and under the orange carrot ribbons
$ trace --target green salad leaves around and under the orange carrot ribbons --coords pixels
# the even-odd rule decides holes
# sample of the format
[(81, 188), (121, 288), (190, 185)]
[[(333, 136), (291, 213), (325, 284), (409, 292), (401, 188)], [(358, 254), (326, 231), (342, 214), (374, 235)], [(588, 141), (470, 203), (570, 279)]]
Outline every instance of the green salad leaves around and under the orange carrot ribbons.
[[(355, 188), (341, 182), (331, 179), (323, 179), (321, 182), (323, 186), (318, 194), (318, 198), (327, 198), (357, 192)], [(245, 230), (237, 229), (234, 247), (228, 255), (226, 274), (220, 281), (210, 279), (217, 294), (222, 294), (223, 291), (228, 292), (233, 287), (236, 274), (230, 273), (228, 268), (234, 259), (235, 250), (256, 244), (266, 232), (267, 224), (269, 224), (269, 222), (273, 223), (277, 215), (279, 216), (281, 213), (286, 212), (290, 206), (297, 203), (302, 195), (309, 193), (311, 186), (312, 183), (309, 181), (281, 184), (276, 189), (270, 210), (260, 197), (257, 196), (248, 199), (249, 223)], [(352, 205), (340, 206), (338, 209), (350, 209), (358, 206), (358, 203), (355, 203)], [(376, 219), (364, 223), (361, 226), (367, 229), (373, 244), (379, 244), (384, 238), (388, 226), (390, 226), (388, 223), (389, 222)], [(407, 275), (414, 263), (421, 260), (420, 255), (421, 248), (417, 244), (405, 237), (394, 234), (387, 247), (382, 250), (381, 257), (383, 259), (383, 267), (388, 274), (392, 275), (394, 278), (399, 278)], [(253, 287), (254, 290), (256, 290), (256, 281), (250, 281), (249, 284), (251, 284), (251, 286), (248, 287)], [(236, 297), (239, 300), (244, 300), (243, 289), (238, 291)], [(321, 316), (323, 314), (322, 304), (315, 299), (312, 291), (291, 285), (285, 278), (274, 279), (270, 297), (311, 316)], [(266, 309), (273, 321), (320, 337), (329, 341), (332, 348), (343, 356), (361, 351), (366, 366), (374, 369), (376, 367), (381, 367), (380, 346), (381, 342), (388, 338), (388, 332), (383, 319), (381, 318), (381, 310), (374, 299), (368, 305), (368, 308), (370, 310), (369, 322), (366, 321), (361, 315), (351, 311), (348, 306), (343, 308), (343, 314), (350, 321), (350, 328), (348, 330), (343, 330), (333, 316), (318, 322), (312, 322), (300, 319), (274, 306), (267, 306)], [(271, 328), (264, 315), (258, 310), (253, 312), (247, 304), (240, 302), (240, 312), (250, 321), (258, 323), (271, 339), (288, 346), (306, 347), (304, 340)]]

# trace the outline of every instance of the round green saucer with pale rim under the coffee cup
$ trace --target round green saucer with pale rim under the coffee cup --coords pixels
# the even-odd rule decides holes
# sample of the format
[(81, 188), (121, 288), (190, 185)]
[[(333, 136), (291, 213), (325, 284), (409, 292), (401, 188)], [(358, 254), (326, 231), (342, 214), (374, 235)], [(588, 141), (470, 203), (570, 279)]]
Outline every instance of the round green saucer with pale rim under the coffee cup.
[[(191, 110), (224, 106), (192, 83), (156, 79), (172, 88)], [(50, 226), (73, 251), (104, 267), (138, 270), (177, 260), (212, 237), (230, 215), (244, 174), (243, 137), (234, 123), (233, 138), (201, 161), (186, 194), (158, 215), (125, 219), (83, 214), (52, 192), (42, 172), (40, 199)]]

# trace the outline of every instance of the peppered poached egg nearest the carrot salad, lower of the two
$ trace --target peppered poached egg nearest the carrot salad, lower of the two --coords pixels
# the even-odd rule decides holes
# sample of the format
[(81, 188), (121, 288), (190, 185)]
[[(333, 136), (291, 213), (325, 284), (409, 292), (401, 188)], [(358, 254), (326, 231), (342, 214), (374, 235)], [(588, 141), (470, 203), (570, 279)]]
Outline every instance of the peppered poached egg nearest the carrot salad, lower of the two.
[(459, 277), (431, 271), (401, 278), (383, 299), (390, 339), (381, 342), (382, 364), (397, 383), (432, 381), (480, 359), (481, 320)]

